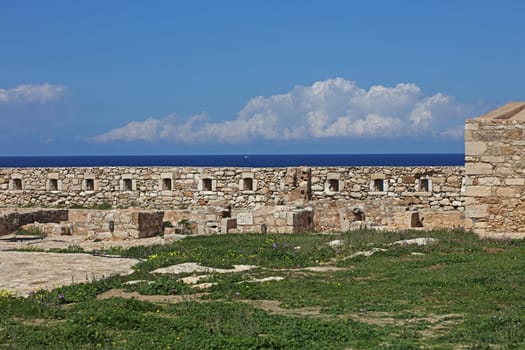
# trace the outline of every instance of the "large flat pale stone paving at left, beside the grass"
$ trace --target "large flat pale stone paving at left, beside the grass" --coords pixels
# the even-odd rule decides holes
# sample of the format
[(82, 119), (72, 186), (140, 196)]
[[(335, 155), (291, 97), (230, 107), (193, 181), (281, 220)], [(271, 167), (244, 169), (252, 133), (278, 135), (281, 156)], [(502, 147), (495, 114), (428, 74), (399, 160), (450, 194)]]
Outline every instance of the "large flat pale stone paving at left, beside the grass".
[(129, 274), (138, 262), (89, 254), (0, 251), (0, 289), (27, 296), (38, 289)]

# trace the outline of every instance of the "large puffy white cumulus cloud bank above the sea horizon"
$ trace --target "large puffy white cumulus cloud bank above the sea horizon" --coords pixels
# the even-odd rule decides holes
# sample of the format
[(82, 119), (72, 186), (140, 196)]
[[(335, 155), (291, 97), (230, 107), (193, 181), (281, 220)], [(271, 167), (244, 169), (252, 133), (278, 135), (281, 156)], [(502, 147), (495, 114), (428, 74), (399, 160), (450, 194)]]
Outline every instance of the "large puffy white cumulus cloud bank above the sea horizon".
[(250, 99), (235, 118), (211, 122), (205, 114), (180, 119), (133, 121), (96, 141), (170, 140), (240, 143), (254, 139), (299, 140), (335, 137), (456, 137), (465, 108), (452, 96), (425, 96), (413, 83), (369, 89), (334, 78), (296, 86), (284, 94)]

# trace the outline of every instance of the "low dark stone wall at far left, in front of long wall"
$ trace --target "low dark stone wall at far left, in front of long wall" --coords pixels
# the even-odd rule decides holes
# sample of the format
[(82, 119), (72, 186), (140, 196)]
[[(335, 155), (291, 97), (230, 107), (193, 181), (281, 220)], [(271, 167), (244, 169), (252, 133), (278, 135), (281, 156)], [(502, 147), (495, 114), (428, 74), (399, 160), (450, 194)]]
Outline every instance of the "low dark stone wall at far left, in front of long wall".
[(0, 212), (0, 235), (12, 233), (19, 227), (33, 222), (59, 223), (67, 220), (68, 211), (63, 209), (4, 211)]

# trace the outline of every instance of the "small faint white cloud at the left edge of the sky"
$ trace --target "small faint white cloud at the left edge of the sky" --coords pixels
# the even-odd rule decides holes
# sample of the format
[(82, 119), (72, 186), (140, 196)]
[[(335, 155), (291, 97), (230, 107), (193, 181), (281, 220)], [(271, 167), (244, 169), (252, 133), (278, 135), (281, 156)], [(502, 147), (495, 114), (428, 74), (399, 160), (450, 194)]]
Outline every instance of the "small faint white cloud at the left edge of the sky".
[(0, 89), (0, 104), (46, 103), (59, 99), (64, 93), (62, 85), (24, 84), (12, 89)]

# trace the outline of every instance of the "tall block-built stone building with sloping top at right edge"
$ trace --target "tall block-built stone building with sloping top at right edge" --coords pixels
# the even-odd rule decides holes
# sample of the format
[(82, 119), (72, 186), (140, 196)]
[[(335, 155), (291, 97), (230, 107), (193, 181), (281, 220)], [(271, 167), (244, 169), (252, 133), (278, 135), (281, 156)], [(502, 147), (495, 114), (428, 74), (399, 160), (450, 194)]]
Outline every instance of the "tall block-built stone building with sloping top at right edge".
[(481, 236), (525, 237), (525, 103), (465, 125), (465, 227)]

